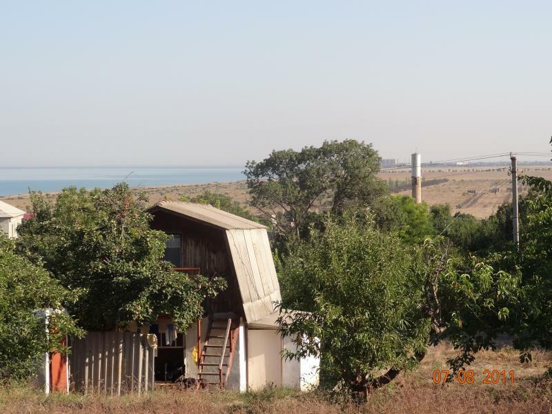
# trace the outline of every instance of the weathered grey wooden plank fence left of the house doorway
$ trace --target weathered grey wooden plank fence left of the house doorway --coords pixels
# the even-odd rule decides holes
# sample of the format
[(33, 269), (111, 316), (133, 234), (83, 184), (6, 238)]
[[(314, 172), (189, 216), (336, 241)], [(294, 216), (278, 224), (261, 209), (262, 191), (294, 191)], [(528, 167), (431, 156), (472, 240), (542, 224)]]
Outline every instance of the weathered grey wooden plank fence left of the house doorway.
[(142, 393), (155, 383), (155, 348), (148, 335), (90, 332), (70, 338), (69, 373), (72, 388), (84, 393)]

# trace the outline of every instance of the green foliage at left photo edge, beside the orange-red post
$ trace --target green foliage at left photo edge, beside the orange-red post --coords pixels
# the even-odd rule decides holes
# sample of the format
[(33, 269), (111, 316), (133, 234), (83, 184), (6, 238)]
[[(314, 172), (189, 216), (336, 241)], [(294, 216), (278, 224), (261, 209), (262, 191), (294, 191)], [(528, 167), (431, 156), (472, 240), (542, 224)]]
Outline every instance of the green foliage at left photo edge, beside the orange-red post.
[(13, 243), (0, 233), (0, 382), (37, 373), (45, 352), (64, 352), (61, 339), (81, 335), (68, 313), (48, 318), (48, 336), (44, 320), (34, 314), (46, 308), (61, 311), (75, 302), (77, 293), (63, 288), (41, 266), (16, 255)]

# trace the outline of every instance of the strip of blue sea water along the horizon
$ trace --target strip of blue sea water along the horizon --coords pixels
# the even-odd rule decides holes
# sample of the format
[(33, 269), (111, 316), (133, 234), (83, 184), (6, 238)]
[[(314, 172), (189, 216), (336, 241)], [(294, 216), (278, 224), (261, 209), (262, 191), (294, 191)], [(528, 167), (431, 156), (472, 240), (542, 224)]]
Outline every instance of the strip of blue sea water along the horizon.
[(245, 179), (243, 167), (40, 167), (0, 168), (0, 196), (43, 192), (68, 186), (109, 188), (121, 181), (131, 187), (201, 184)]

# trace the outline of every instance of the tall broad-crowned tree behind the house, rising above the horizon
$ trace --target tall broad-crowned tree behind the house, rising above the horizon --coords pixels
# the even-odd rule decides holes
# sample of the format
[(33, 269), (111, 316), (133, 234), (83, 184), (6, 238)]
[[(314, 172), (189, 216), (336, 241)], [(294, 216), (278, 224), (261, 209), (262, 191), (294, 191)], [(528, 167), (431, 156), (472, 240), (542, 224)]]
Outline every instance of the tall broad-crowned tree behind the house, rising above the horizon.
[(371, 144), (353, 139), (322, 146), (273, 151), (263, 161), (248, 161), (244, 174), (251, 204), (284, 237), (301, 237), (314, 211), (341, 214), (367, 206), (386, 191), (376, 177), (380, 157)]

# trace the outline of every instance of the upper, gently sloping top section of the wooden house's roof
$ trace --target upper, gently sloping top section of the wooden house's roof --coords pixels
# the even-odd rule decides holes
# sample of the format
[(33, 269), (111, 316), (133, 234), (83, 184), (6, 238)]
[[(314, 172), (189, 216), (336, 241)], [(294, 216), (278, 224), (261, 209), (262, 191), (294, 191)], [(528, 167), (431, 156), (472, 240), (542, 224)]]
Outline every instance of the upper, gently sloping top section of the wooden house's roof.
[(235, 228), (241, 228), (243, 230), (252, 228), (266, 229), (262, 224), (219, 210), (209, 204), (165, 200), (159, 201), (155, 206), (149, 208), (150, 213), (157, 210), (168, 210), (170, 213), (175, 213), (193, 219), (194, 221), (201, 221), (223, 230), (233, 230)]

